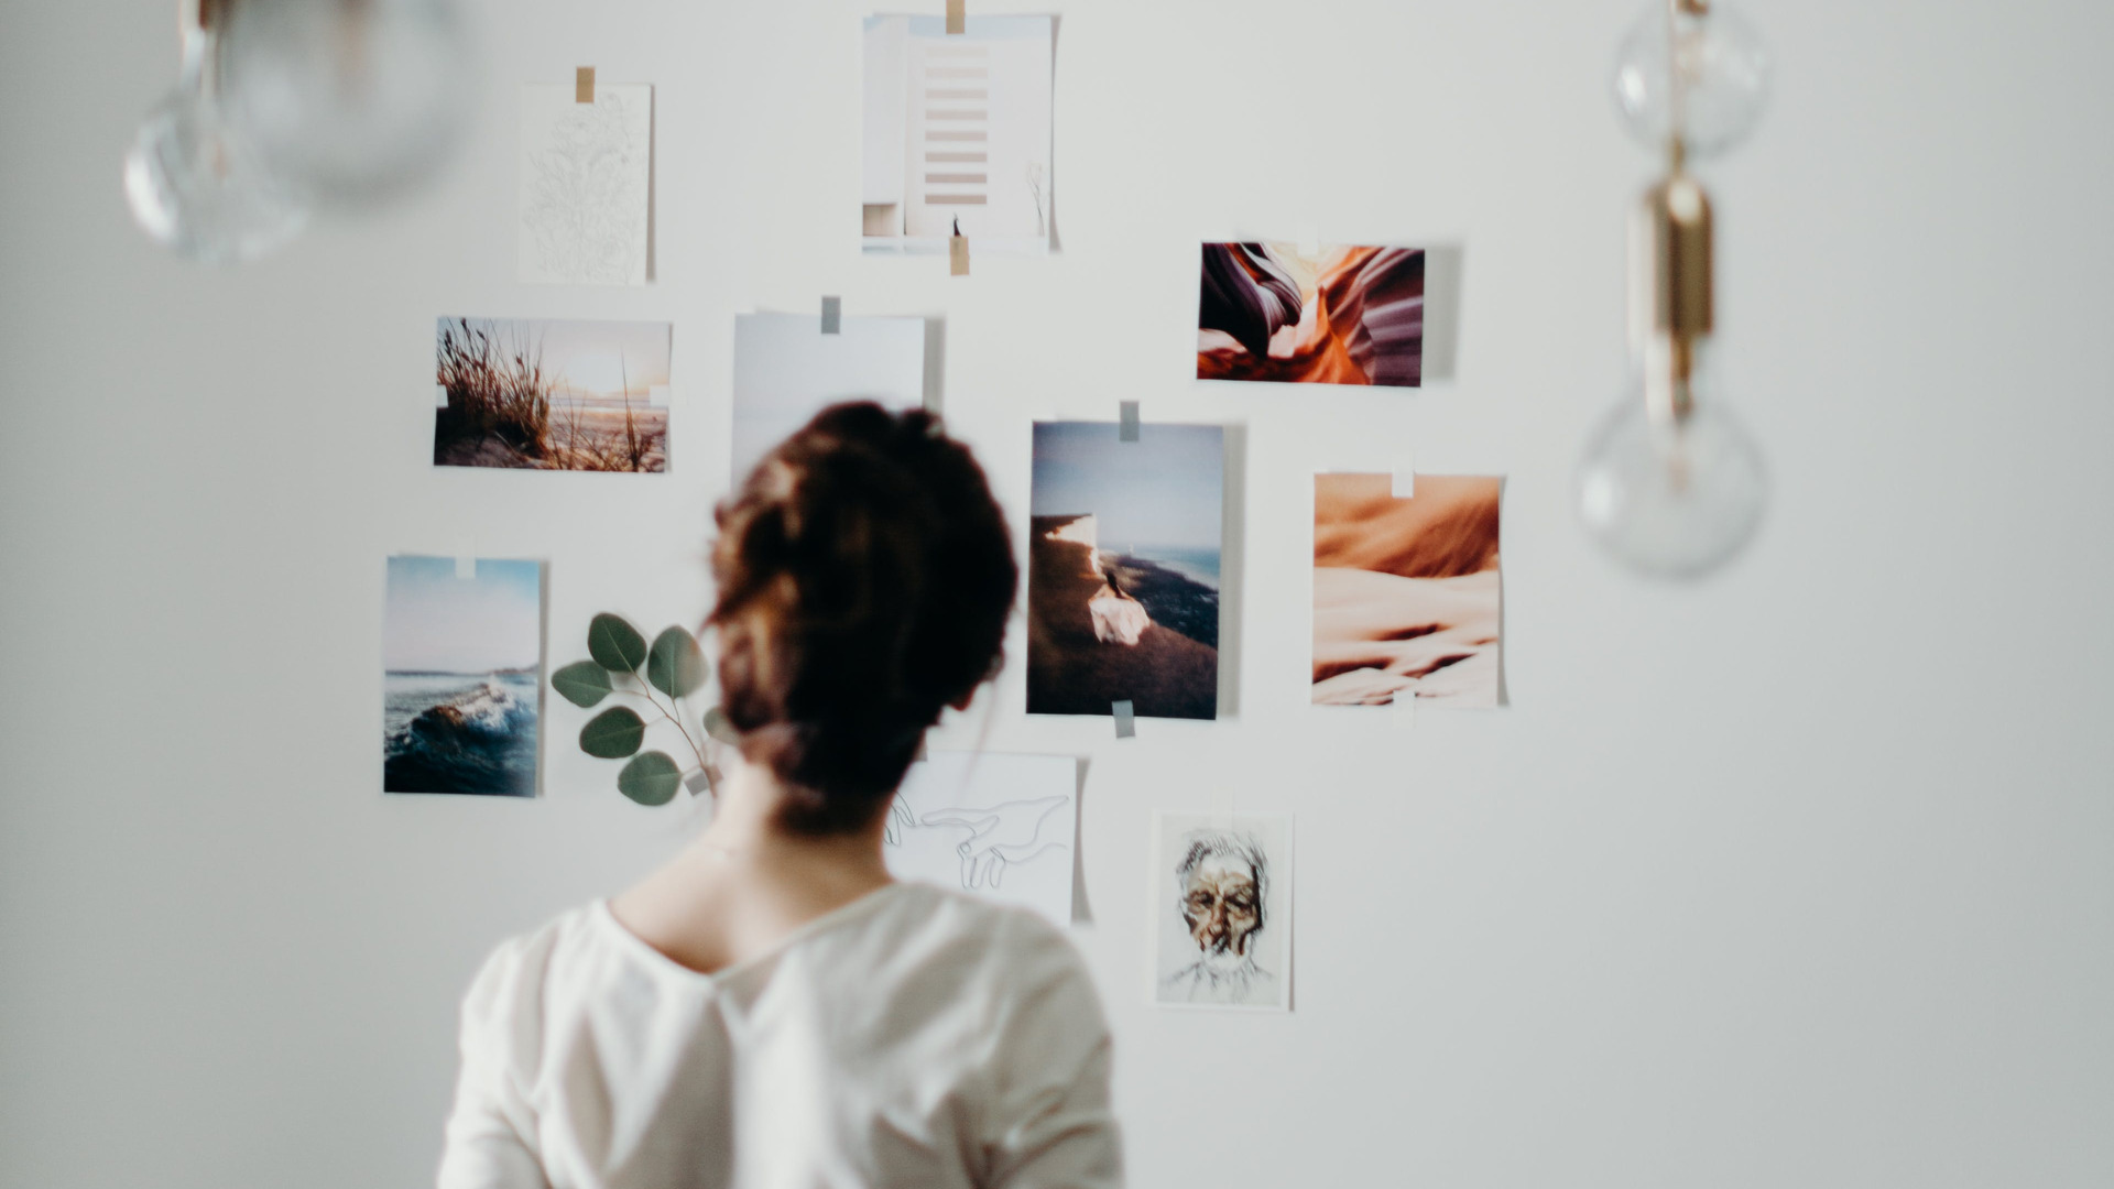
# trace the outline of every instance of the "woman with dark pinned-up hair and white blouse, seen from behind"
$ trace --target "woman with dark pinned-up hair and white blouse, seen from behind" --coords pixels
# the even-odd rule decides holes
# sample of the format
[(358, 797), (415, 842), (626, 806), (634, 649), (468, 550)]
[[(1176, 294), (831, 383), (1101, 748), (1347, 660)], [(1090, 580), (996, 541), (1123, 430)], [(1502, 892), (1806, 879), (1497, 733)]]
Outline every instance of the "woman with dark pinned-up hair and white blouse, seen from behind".
[(926, 413), (824, 410), (719, 508), (710, 829), (490, 956), (442, 1189), (1112, 1187), (1110, 1043), (1034, 914), (892, 882), (888, 804), (1019, 571)]

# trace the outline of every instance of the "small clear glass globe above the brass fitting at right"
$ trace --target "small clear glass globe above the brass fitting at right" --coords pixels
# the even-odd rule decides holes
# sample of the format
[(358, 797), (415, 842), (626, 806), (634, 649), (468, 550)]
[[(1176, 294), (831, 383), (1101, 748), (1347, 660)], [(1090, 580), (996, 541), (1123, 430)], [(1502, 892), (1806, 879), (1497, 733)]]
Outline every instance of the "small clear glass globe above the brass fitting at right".
[[(1668, 55), (1668, 36), (1674, 53)], [(1676, 112), (1670, 66), (1681, 70)], [(1689, 157), (1714, 157), (1746, 140), (1769, 97), (1769, 51), (1723, 0), (1653, 0), (1615, 55), (1615, 106), (1649, 148), (1666, 148), (1679, 116)]]

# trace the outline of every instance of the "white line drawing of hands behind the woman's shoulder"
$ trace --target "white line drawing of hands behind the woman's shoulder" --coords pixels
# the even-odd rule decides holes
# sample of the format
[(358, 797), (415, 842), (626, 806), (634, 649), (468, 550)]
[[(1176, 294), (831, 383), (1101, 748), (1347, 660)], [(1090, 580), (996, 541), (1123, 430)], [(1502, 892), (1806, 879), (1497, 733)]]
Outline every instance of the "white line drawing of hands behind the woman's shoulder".
[(888, 870), (1072, 925), (1078, 762), (934, 751), (888, 810)]

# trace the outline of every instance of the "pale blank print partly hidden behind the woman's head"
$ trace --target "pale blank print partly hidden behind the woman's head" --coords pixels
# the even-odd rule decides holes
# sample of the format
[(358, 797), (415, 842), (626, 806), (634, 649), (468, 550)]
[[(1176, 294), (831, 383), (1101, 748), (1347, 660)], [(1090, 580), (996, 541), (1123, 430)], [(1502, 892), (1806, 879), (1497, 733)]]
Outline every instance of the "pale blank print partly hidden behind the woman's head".
[(818, 313), (734, 319), (734, 470), (740, 484), (772, 446), (839, 400), (924, 406), (924, 319), (850, 317), (822, 334)]

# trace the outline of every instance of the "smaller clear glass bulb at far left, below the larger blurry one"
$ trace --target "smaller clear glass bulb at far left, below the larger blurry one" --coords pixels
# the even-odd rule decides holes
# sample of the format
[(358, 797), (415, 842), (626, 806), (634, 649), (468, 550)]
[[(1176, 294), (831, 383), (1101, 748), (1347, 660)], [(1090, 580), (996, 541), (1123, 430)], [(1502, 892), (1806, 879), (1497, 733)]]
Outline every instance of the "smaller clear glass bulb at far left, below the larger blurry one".
[(211, 87), (214, 53), (209, 32), (186, 38), (182, 85), (146, 116), (125, 154), (125, 199), (163, 248), (237, 264), (300, 235), (309, 203), (226, 121)]

